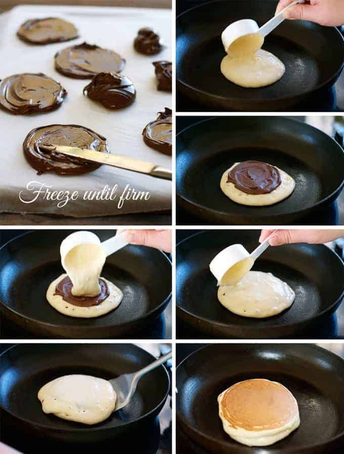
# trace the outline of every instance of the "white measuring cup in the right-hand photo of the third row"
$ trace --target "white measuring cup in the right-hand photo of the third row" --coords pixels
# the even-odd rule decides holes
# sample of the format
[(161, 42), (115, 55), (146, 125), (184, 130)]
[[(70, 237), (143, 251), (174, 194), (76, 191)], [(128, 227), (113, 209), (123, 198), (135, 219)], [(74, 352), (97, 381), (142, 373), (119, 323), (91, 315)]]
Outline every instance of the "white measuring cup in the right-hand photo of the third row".
[(218, 285), (235, 285), (252, 268), (254, 262), (269, 247), (272, 232), (256, 249), (249, 254), (242, 244), (232, 244), (212, 259), (209, 268), (217, 278)]

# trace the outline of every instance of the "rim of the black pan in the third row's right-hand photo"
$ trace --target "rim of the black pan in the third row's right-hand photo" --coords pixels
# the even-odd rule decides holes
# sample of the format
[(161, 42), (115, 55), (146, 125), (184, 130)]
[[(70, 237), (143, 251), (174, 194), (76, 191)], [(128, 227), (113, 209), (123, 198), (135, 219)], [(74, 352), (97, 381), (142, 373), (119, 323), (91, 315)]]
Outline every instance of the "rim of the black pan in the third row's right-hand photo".
[[(213, 230), (201, 230), (200, 232), (196, 232), (190, 236), (188, 236), (187, 238), (184, 238), (182, 241), (180, 241), (178, 244), (176, 244), (176, 256), (177, 256), (177, 252), (178, 252), (178, 246), (180, 244), (182, 244), (184, 241), (187, 241), (188, 239), (190, 238), (193, 238), (194, 236), (196, 235), (201, 235), (202, 233), (204, 232), (208, 232), (208, 231), (214, 231), (216, 229), (213, 229)], [(252, 230), (252, 229), (245, 229), (245, 230)], [(299, 243), (299, 244), (303, 244), (303, 243)], [(309, 245), (312, 245), (310, 243), (305, 243), (305, 244), (309, 244)], [(334, 256), (339, 260), (339, 263), (341, 264), (341, 267), (342, 269), (344, 269), (344, 261), (338, 256), (338, 254), (336, 254), (334, 251), (332, 251), (328, 246), (326, 246), (325, 244), (317, 244), (319, 246), (323, 246), (323, 247), (326, 247), (327, 250), (329, 250), (332, 254), (334, 254)], [(178, 265), (178, 262), (177, 262), (177, 257), (176, 257), (176, 271), (177, 271), (177, 265)], [(341, 294), (339, 296), (339, 298), (337, 298), (335, 300), (334, 303), (332, 303), (327, 309), (324, 309), (323, 311), (319, 312), (319, 314), (315, 315), (314, 317), (308, 317), (308, 318), (305, 318), (304, 320), (302, 321), (298, 321), (296, 323), (283, 323), (282, 325), (279, 324), (279, 325), (269, 325), (267, 327), (255, 327), (254, 326), (254, 330), (256, 332), (262, 332), (262, 331), (265, 331), (266, 329), (278, 329), (278, 328), (284, 328), (284, 327), (292, 327), (292, 326), (300, 326), (300, 325), (303, 325), (304, 323), (307, 323), (307, 322), (310, 322), (310, 321), (316, 321), (318, 320), (318, 318), (321, 318), (323, 317), (324, 315), (326, 315), (328, 312), (329, 313), (332, 313), (332, 309), (340, 302), (344, 303), (344, 301), (342, 301), (344, 299), (344, 283), (343, 283), (343, 287), (342, 287), (342, 291), (341, 291)], [(183, 312), (184, 314), (188, 315), (189, 317), (192, 317), (196, 320), (201, 320), (207, 324), (210, 324), (210, 325), (215, 325), (215, 326), (219, 326), (219, 327), (223, 327), (223, 328), (230, 328), (231, 326), (238, 326), (238, 325), (234, 325), (234, 324), (228, 324), (228, 323), (223, 323), (223, 322), (218, 322), (218, 321), (212, 321), (212, 320), (209, 320), (207, 318), (204, 318), (204, 317), (201, 317), (200, 315), (195, 315), (195, 314), (192, 314), (191, 312), (187, 311), (186, 309), (182, 308), (179, 304), (179, 299), (177, 299), (177, 295), (176, 295), (176, 306), (177, 306), (177, 311), (181, 311)], [(250, 327), (247, 327), (247, 329), (250, 329)]]

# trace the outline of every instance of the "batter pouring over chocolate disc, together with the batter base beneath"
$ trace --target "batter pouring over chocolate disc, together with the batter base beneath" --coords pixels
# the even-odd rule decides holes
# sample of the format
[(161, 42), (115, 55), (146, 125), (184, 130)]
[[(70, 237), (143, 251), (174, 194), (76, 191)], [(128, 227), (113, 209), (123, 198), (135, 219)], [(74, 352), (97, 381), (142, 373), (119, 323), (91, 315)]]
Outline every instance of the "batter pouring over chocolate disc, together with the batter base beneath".
[(112, 282), (100, 279), (105, 260), (99, 244), (81, 243), (73, 247), (62, 262), (67, 274), (49, 285), (48, 302), (71, 317), (98, 317), (115, 309), (123, 294)]

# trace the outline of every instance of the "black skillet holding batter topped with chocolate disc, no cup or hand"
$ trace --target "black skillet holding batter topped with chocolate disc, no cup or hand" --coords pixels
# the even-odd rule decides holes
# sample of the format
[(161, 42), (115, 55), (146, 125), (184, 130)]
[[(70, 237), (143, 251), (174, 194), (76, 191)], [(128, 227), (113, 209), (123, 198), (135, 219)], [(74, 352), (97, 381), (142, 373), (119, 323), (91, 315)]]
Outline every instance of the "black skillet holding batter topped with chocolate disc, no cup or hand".
[[(291, 175), (296, 186), (286, 199), (247, 207), (220, 189), (235, 162), (268, 162)], [(344, 187), (344, 153), (322, 131), (302, 121), (275, 117), (216, 117), (177, 136), (177, 196), (186, 211), (214, 224), (290, 225), (329, 205)]]

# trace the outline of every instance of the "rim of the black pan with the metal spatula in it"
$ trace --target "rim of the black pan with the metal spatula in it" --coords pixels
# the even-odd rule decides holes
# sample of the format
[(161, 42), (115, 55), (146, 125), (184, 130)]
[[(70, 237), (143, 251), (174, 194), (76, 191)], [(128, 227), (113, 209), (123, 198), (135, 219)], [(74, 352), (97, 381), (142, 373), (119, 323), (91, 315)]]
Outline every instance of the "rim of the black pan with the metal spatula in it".
[[(28, 343), (29, 344), (29, 343)], [(15, 345), (13, 345), (12, 347), (9, 347), (8, 349), (6, 349), (5, 351), (3, 351), (3, 353), (0, 354), (0, 358), (7, 352), (9, 352), (10, 350), (16, 348), (17, 346), (20, 346), (20, 345), (28, 345), (28, 344), (20, 344), (20, 343), (17, 343)], [(33, 344), (31, 344), (33, 345)], [(47, 344), (47, 345), (50, 345), (50, 344)], [(54, 344), (53, 344), (54, 345)], [(55, 344), (56, 345), (56, 344)], [(63, 344), (62, 344), (63, 345)], [(70, 345), (77, 345), (77, 344), (70, 344)], [(94, 344), (93, 344), (94, 345)], [(104, 344), (104, 345), (110, 345), (110, 344)], [(112, 344), (114, 345), (114, 344)], [(119, 344), (119, 345), (122, 345), (122, 344)], [(130, 345), (135, 345), (135, 344), (130, 344)], [(148, 355), (151, 356), (151, 359), (152, 361), (156, 360), (156, 358), (151, 354), (149, 353), (147, 350), (144, 350), (143, 348), (141, 347), (138, 347), (137, 345), (135, 345), (136, 348), (138, 348), (139, 350), (143, 351), (143, 352), (146, 352)], [(163, 399), (158, 403), (158, 405), (156, 405), (153, 409), (151, 409), (148, 413), (146, 413), (145, 415), (142, 415), (140, 416), (139, 418), (133, 420), (133, 421), (129, 421), (127, 424), (123, 425), (123, 427), (128, 427), (128, 426), (131, 426), (132, 424), (136, 424), (140, 421), (142, 421), (143, 419), (146, 419), (148, 418), (150, 415), (152, 415), (155, 411), (158, 410), (159, 406), (166, 401), (167, 397), (168, 397), (168, 392), (169, 392), (169, 389), (170, 389), (170, 379), (169, 379), (169, 375), (168, 375), (168, 372), (166, 370), (166, 367), (164, 366), (164, 364), (161, 364), (163, 370), (164, 370), (164, 375), (165, 377), (167, 378), (167, 391), (165, 392), (165, 395), (163, 397)], [(160, 367), (160, 366), (159, 366)], [(10, 414), (11, 416), (13, 416), (14, 418), (16, 419), (19, 419), (20, 421), (23, 421), (25, 422), (26, 424), (29, 424), (31, 426), (35, 426), (35, 427), (39, 427), (40, 429), (46, 429), (46, 430), (54, 430), (56, 432), (90, 432), (90, 431), (106, 431), (106, 430), (112, 430), (113, 428), (110, 428), (110, 427), (95, 427), (95, 426), (87, 426), (87, 427), (80, 427), (80, 428), (71, 428), (71, 429), (60, 429), (60, 428), (53, 428), (51, 426), (47, 426), (46, 424), (41, 424), (41, 423), (33, 423), (32, 421), (28, 420), (27, 418), (23, 418), (21, 416), (18, 416), (16, 415), (13, 411), (9, 411), (7, 408), (4, 408), (2, 402), (0, 401), (0, 409), (2, 409), (3, 411), (7, 412), (8, 414)], [(105, 420), (106, 421), (106, 420)], [(105, 422), (103, 421), (103, 422)], [(73, 421), (71, 421), (72, 423), (74, 423)], [(99, 423), (99, 424), (102, 424), (102, 423)], [(120, 426), (119, 426), (120, 427)]]

